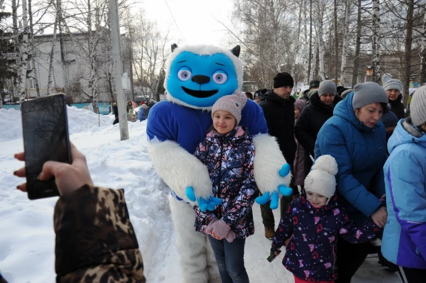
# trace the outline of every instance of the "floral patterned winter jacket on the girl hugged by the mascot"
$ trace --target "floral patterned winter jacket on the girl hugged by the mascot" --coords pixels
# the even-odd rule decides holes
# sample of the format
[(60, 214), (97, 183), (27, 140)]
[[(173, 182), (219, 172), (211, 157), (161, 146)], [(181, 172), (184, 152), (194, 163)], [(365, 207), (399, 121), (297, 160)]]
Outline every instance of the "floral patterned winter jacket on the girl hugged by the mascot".
[(247, 130), (235, 127), (226, 135), (212, 131), (196, 147), (194, 155), (207, 166), (214, 196), (223, 200), (214, 211), (203, 212), (194, 206), (194, 229), (207, 233), (208, 224), (219, 218), (230, 226), (236, 238), (253, 235), (252, 206), (259, 191), (253, 174), (254, 145)]

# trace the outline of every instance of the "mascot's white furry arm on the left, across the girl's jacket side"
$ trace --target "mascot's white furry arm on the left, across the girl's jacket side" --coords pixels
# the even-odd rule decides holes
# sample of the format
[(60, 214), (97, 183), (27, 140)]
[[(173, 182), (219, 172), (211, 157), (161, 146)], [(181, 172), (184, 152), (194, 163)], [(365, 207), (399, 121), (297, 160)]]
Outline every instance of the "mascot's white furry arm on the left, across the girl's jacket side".
[(187, 187), (194, 188), (197, 198), (212, 195), (207, 167), (179, 144), (170, 140), (150, 143), (150, 156), (156, 172), (180, 198), (191, 202), (186, 197)]

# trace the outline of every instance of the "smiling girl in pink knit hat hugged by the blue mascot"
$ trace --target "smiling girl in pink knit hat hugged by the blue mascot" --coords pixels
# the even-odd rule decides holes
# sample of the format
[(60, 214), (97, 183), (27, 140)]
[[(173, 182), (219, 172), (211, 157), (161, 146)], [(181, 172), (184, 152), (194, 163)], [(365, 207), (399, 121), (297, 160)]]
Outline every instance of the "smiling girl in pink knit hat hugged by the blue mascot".
[(194, 154), (206, 165), (212, 194), (219, 200), (214, 210), (194, 206), (194, 229), (208, 235), (222, 282), (249, 282), (244, 246), (245, 238), (254, 233), (252, 206), (259, 191), (253, 140), (245, 127), (239, 127), (246, 102), (243, 93), (219, 98), (212, 107), (213, 129)]

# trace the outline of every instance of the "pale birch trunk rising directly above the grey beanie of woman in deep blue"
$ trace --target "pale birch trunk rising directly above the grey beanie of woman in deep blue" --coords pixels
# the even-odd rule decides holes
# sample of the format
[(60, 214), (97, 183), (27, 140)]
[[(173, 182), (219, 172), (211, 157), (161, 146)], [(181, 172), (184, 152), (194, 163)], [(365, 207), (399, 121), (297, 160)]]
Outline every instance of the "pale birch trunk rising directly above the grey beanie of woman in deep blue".
[(373, 15), (373, 81), (374, 83), (381, 83), (380, 72), (380, 0), (372, 0), (372, 15)]

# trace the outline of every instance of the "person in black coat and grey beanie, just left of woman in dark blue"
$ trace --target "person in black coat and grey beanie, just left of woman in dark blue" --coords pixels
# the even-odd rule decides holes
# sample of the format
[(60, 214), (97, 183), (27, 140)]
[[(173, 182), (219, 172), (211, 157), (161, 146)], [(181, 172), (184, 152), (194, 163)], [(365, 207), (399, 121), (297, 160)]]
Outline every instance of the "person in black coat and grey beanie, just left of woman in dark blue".
[(329, 80), (323, 81), (318, 92), (310, 97), (310, 104), (297, 119), (294, 134), (298, 143), (305, 149), (305, 176), (309, 174), (313, 164), (310, 156), (314, 157), (316, 136), (325, 121), (333, 116), (334, 107), (341, 100), (342, 98), (336, 95), (336, 84)]

